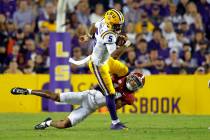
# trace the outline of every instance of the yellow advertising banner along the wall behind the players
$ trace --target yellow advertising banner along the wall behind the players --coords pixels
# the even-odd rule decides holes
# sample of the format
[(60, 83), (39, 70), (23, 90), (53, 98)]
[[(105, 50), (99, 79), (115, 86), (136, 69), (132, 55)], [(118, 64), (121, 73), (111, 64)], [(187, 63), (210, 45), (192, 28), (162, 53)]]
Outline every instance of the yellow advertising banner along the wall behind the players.
[[(146, 77), (145, 86), (135, 93), (133, 105), (126, 105), (119, 113), (210, 115), (210, 75), (152, 75)], [(14, 96), (12, 87), (47, 89), (49, 75), (0, 75), (0, 112), (40, 112), (41, 98)], [(28, 82), (30, 81), (30, 82)], [(92, 74), (73, 74), (70, 79), (73, 91), (90, 89), (97, 83)], [(70, 81), (66, 83), (69, 89)], [(55, 90), (62, 88), (56, 86)], [(65, 90), (65, 88), (63, 88)], [(63, 89), (59, 89), (64, 91)], [(42, 108), (43, 109), (43, 108)], [(103, 112), (105, 109), (101, 109)], [(44, 111), (71, 111), (66, 104), (48, 103)]]

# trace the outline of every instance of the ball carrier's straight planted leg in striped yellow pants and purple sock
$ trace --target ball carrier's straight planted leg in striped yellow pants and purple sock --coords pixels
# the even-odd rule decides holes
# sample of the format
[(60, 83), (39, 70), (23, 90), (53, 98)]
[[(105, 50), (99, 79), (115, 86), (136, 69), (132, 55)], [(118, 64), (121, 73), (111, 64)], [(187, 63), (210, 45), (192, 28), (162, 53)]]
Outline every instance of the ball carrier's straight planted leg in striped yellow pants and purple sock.
[(89, 63), (90, 70), (95, 74), (100, 87), (104, 91), (104, 95), (106, 96), (106, 106), (109, 110), (112, 125), (111, 128), (115, 129), (124, 129), (126, 128), (123, 124), (120, 123), (116, 113), (116, 104), (115, 104), (115, 89), (112, 83), (111, 75), (109, 73), (108, 64), (104, 64), (103, 66), (96, 66), (92, 62)]

